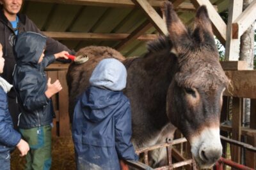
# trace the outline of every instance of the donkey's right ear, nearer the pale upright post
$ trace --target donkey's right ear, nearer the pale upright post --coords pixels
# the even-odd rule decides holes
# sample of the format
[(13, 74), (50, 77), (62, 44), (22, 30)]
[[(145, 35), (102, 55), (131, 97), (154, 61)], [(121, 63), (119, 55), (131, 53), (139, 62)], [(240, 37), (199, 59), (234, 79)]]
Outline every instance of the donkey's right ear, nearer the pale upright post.
[(197, 43), (207, 43), (208, 45), (215, 46), (211, 20), (204, 5), (200, 6), (196, 12), (193, 38)]

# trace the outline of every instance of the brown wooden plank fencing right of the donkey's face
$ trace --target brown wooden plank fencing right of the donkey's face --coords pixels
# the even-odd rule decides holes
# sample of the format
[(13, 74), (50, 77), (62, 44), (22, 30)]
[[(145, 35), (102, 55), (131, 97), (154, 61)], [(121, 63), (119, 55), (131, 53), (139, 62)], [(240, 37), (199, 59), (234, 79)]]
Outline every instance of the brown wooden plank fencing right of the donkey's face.
[[(230, 67), (230, 64), (232, 64), (232, 68)], [(236, 64), (236, 66), (234, 64)], [(221, 125), (221, 131), (222, 134), (223, 132), (230, 133), (229, 137), (232, 139), (236, 139), (237, 141), (242, 141), (243, 139), (244, 143), (256, 146), (256, 70), (238, 71), (239, 67), (242, 66), (241, 64), (243, 65), (243, 63), (238, 62), (221, 63), (223, 69), (226, 70), (227, 67), (225, 66), (228, 65), (228, 71), (225, 71), (225, 73), (232, 84), (232, 88), (229, 89), (230, 92), (227, 92), (227, 90), (225, 92), (225, 96), (232, 96), (232, 125)], [(237, 67), (237, 69), (234, 67)], [(227, 105), (229, 101), (226, 97), (224, 98), (223, 111), (221, 111), (221, 122), (225, 122), (225, 118), (226, 121), (228, 120), (228, 117), (223, 114), (227, 114)], [(244, 127), (242, 124), (243, 98), (251, 99), (250, 127)], [(228, 148), (224, 147), (223, 149), (225, 149), (223, 153), (227, 153)], [(256, 169), (256, 153), (245, 150), (244, 161), (242, 160), (243, 157), (241, 154), (240, 147), (231, 145), (230, 155), (234, 162), (244, 162), (246, 166)]]

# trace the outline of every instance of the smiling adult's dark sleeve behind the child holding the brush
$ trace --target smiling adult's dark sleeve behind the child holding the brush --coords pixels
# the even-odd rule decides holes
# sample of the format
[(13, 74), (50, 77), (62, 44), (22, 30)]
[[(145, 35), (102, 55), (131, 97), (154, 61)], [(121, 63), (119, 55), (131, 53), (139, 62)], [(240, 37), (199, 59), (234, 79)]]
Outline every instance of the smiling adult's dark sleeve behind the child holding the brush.
[[(28, 17), (26, 17), (26, 22), (29, 24), (28, 25), (30, 29), (29, 31), (37, 32), (45, 36), (45, 34), (42, 31), (40, 31)], [(45, 55), (52, 55), (54, 53), (59, 53), (62, 51), (67, 51), (68, 53), (75, 55), (76, 52), (74, 50), (68, 49), (67, 46), (61, 44), (59, 41), (56, 41), (55, 39), (52, 39), (51, 37), (48, 37), (48, 36), (46, 37), (47, 39), (46, 39)], [(61, 62), (71, 62), (70, 59), (57, 59), (57, 60)]]

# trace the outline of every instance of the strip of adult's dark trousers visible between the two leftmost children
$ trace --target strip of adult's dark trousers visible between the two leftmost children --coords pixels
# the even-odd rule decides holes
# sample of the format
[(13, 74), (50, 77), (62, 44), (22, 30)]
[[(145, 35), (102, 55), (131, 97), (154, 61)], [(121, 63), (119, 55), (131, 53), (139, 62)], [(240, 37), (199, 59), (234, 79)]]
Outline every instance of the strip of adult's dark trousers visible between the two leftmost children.
[(16, 101), (16, 97), (9, 97), (8, 96), (8, 106), (10, 115), (12, 117), (13, 127), (15, 130), (18, 130), (18, 120), (19, 120), (19, 106)]

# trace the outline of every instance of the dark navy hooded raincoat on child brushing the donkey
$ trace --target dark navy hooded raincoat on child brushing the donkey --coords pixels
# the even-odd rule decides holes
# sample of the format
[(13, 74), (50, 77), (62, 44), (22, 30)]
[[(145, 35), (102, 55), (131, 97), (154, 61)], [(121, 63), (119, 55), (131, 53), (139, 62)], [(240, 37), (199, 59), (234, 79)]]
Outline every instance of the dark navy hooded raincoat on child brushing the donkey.
[(35, 32), (22, 32), (15, 44), (16, 66), (13, 87), (20, 107), (19, 127), (30, 129), (49, 125), (54, 117), (51, 99), (45, 96), (47, 77), (44, 68), (54, 62), (54, 55), (38, 60), (46, 45), (46, 37)]

